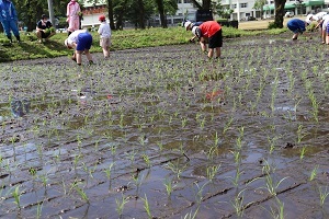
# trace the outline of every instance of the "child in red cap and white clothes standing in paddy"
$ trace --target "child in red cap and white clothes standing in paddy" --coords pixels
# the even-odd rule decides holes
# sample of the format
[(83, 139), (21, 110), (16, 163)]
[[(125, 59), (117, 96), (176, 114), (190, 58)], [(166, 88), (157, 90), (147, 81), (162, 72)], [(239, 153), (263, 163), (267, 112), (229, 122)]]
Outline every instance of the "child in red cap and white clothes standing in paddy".
[(106, 18), (104, 15), (100, 15), (99, 21), (101, 22), (101, 25), (98, 31), (101, 37), (100, 46), (103, 49), (104, 58), (109, 58), (111, 46), (111, 27), (109, 23), (106, 23)]

